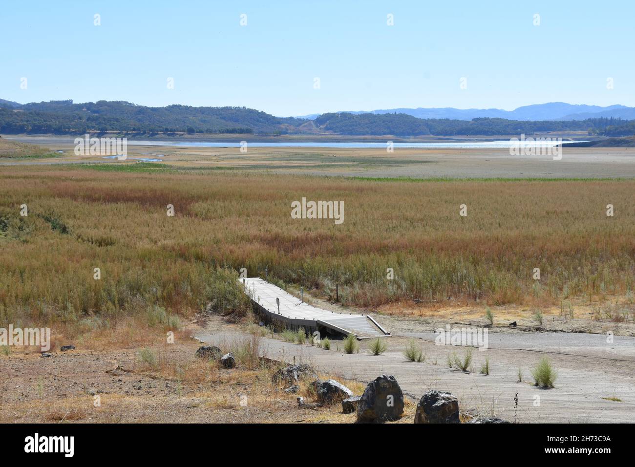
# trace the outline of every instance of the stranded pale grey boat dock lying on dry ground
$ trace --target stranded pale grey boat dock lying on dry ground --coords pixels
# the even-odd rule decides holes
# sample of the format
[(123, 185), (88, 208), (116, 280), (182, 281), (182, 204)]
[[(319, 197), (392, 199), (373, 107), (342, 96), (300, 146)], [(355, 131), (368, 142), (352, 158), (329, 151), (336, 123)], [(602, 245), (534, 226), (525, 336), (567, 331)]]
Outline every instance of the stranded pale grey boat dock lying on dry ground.
[[(337, 313), (306, 304), (285, 290), (258, 277), (241, 280), (244, 291), (265, 320), (291, 329), (305, 328), (326, 335), (353, 334), (358, 339), (389, 336), (370, 315)], [(279, 306), (277, 300), (279, 300)]]

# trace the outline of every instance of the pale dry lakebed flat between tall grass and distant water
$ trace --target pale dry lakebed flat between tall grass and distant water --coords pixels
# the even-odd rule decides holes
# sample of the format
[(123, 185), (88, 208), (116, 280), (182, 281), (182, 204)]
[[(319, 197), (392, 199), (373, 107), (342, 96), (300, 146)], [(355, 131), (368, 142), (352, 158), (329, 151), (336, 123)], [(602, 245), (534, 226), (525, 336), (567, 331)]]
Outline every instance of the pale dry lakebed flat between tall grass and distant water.
[[(75, 156), (70, 137), (3, 138), (40, 144), (64, 156), (53, 160), (1, 161), (0, 164), (112, 163), (102, 156)], [(509, 149), (413, 149), (396, 148), (388, 153), (380, 148), (330, 147), (175, 147), (157, 140), (152, 145), (128, 144), (128, 159), (157, 159), (180, 167), (266, 170), (276, 173), (303, 173), (338, 177), (434, 178), (624, 178), (635, 177), (635, 149), (566, 148), (563, 158), (552, 156), (512, 156)]]

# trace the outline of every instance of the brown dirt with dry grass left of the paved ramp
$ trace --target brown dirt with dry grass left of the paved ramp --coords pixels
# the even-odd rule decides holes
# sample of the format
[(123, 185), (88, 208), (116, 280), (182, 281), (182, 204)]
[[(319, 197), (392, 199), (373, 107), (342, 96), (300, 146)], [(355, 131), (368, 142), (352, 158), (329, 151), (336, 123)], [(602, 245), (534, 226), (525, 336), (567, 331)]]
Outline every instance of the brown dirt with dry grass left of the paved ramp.
[[(205, 327), (190, 324), (188, 332), (204, 333), (236, 325), (212, 317)], [(244, 336), (235, 336), (234, 341)], [(249, 339), (250, 336), (245, 337)], [(53, 352), (11, 349), (0, 355), (0, 423), (354, 423), (342, 407), (301, 409), (296, 395), (272, 384), (279, 368), (222, 369), (196, 358), (201, 343), (177, 339), (174, 344), (149, 346), (156, 364), (140, 360), (145, 349)], [(227, 347), (225, 347), (227, 346)], [(228, 348), (225, 341), (223, 347)], [(339, 375), (356, 394), (365, 384)], [(298, 395), (314, 398), (303, 386)], [(96, 400), (98, 398), (98, 406)], [(403, 419), (414, 417), (408, 400)]]

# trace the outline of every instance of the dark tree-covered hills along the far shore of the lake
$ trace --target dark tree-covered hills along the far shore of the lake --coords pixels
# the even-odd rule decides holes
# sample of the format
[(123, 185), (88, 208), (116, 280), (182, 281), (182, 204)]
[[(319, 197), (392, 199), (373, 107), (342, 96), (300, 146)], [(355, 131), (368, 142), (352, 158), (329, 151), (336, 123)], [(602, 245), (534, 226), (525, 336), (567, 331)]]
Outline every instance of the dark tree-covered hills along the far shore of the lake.
[[(0, 102), (0, 133), (6, 134), (83, 134), (117, 132), (128, 135), (152, 137), (158, 134), (192, 133), (254, 133), (262, 135), (394, 135), (398, 137), (438, 136), (504, 136), (533, 135), (537, 132), (586, 132), (589, 135), (620, 137), (635, 135), (635, 119), (625, 120), (605, 117), (606, 112), (596, 112), (606, 107), (551, 103), (519, 107), (518, 119), (501, 116), (450, 118), (457, 109), (432, 109), (436, 118), (418, 118), (406, 113), (408, 109), (394, 112), (331, 112), (315, 119), (276, 117), (266, 112), (246, 107), (190, 107), (168, 105), (146, 107), (124, 101), (86, 102), (75, 104), (72, 100), (51, 100), (17, 104)], [(410, 109), (411, 110), (411, 109)], [(419, 109), (425, 110), (425, 109)], [(625, 112), (630, 107), (612, 106), (610, 111)], [(578, 112), (587, 119), (547, 119), (562, 112)], [(580, 113), (580, 111), (585, 111)], [(486, 115), (508, 115), (510, 112), (485, 109)], [(530, 116), (540, 119), (530, 120)], [(596, 117), (603, 115), (602, 117)]]

